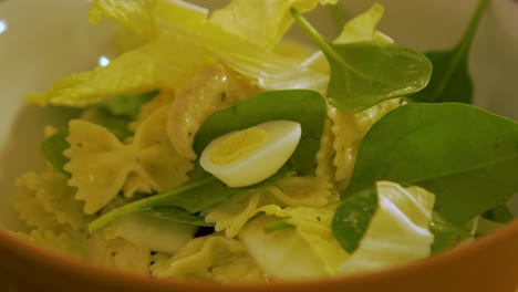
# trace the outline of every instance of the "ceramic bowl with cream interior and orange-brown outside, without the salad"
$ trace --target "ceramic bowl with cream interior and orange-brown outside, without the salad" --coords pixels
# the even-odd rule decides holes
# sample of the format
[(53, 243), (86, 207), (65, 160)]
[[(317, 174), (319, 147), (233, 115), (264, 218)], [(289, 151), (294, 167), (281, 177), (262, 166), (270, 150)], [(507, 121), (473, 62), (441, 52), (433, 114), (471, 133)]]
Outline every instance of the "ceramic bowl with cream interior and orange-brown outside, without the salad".
[[(200, 2), (200, 1), (198, 1)], [(224, 1), (216, 1), (224, 2)], [(372, 1), (346, 1), (354, 14)], [(475, 0), (381, 1), (381, 29), (398, 44), (446, 49), (460, 36)], [(211, 2), (214, 4), (214, 2)], [(515, 291), (518, 221), (453, 251), (404, 267), (354, 277), (270, 284), (209, 284), (153, 280), (94, 267), (33, 246), (9, 208), (14, 179), (42, 165), (41, 126), (63, 117), (23, 105), (23, 95), (56, 77), (93, 66), (112, 53), (110, 27), (91, 27), (89, 1), (0, 0), (0, 291)], [(312, 21), (329, 25), (325, 14)], [(518, 2), (494, 0), (481, 20), (469, 59), (475, 103), (518, 119)], [(297, 34), (294, 34), (296, 38)], [(515, 215), (518, 201), (510, 202)]]

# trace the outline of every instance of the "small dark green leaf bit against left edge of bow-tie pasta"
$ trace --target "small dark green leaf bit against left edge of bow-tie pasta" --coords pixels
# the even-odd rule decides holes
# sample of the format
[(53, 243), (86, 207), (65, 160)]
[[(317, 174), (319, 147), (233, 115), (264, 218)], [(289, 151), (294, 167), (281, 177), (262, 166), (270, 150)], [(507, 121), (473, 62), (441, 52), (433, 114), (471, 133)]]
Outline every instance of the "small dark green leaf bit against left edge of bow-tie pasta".
[(58, 129), (54, 134), (40, 143), (40, 150), (52, 167), (70, 177), (70, 174), (63, 168), (69, 161), (69, 158), (63, 155), (63, 152), (70, 147), (66, 137), (69, 137), (69, 129)]

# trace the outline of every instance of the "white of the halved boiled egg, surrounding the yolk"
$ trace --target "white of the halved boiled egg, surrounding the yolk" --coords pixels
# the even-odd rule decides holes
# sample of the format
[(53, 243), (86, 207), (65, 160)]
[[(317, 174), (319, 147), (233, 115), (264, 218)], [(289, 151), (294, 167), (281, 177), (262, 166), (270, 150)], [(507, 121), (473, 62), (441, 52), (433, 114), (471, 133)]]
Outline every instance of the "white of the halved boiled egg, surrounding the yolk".
[[(274, 175), (297, 148), (302, 135), (301, 126), (292, 121), (271, 121), (255, 127), (269, 134), (268, 139), (255, 150), (229, 163), (214, 163), (216, 149), (236, 134), (231, 132), (209, 143), (199, 158), (200, 166), (229, 187), (255, 185)], [(246, 147), (246, 144), (237, 147)]]

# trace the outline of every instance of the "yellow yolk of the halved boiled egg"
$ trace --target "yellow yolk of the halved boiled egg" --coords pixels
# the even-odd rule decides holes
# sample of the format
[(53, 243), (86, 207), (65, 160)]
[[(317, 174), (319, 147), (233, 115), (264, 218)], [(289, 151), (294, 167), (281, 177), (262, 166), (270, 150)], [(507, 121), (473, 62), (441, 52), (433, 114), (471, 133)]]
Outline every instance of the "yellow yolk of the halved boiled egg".
[(216, 165), (226, 165), (247, 157), (261, 147), (270, 137), (266, 131), (250, 127), (225, 137), (211, 155), (210, 161)]

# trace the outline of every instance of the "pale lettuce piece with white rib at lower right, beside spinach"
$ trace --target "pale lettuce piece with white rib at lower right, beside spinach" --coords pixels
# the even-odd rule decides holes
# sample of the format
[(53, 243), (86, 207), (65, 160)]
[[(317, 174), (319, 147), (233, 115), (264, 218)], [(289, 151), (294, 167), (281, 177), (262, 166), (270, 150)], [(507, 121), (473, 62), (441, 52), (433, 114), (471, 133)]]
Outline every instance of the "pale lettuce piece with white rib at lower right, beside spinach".
[(339, 273), (379, 270), (428, 258), (435, 195), (419, 187), (379, 181), (377, 208), (358, 249)]

